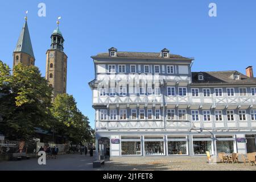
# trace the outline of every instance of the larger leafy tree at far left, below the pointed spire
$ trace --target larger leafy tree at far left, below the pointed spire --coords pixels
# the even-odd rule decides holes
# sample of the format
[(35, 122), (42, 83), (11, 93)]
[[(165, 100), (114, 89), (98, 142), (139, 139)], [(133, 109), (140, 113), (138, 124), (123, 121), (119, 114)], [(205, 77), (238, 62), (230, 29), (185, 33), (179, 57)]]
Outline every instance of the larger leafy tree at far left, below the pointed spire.
[[(0, 63), (0, 131), (9, 139), (31, 139), (34, 127), (51, 126), (52, 89), (37, 67), (18, 64), (10, 69)], [(2, 77), (3, 75), (3, 77)]]

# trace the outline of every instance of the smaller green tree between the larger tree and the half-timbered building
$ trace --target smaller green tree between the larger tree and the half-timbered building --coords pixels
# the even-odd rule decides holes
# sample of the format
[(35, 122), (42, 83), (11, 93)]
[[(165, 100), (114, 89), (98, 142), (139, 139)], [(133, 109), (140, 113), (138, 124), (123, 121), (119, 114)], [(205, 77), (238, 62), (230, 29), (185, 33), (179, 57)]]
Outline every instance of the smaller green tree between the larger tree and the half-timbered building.
[(77, 109), (73, 96), (58, 94), (53, 101), (52, 114), (57, 119), (55, 131), (72, 144), (80, 144), (91, 137), (89, 119)]

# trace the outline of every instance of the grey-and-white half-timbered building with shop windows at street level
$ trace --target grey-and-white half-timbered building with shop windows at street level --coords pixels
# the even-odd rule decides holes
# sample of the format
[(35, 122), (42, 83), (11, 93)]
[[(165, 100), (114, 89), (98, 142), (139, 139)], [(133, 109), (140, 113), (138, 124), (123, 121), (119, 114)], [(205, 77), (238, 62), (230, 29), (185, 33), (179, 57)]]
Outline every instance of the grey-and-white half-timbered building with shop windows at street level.
[[(96, 152), (110, 156), (255, 152), (252, 67), (191, 72), (193, 58), (119, 52), (92, 56)], [(98, 153), (97, 153), (98, 155)]]

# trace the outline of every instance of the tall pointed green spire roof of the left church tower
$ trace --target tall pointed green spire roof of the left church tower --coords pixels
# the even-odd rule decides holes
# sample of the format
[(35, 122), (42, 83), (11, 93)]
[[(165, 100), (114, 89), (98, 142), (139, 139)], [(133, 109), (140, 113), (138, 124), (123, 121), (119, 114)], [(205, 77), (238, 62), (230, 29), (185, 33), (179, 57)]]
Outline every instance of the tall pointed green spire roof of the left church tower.
[(28, 31), (27, 20), (24, 23), (24, 26), (22, 27), (22, 31), (20, 32), (19, 40), (18, 43), (16, 44), (14, 52), (24, 52), (35, 59), (30, 40), (30, 32)]

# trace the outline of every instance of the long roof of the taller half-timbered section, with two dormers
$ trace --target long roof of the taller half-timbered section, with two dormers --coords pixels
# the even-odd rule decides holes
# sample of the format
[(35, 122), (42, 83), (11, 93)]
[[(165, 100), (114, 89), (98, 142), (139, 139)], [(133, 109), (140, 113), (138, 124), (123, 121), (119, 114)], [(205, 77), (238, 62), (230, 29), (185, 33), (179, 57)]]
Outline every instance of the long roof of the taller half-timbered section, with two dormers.
[(117, 52), (116, 57), (110, 57), (109, 52), (99, 53), (92, 56), (93, 59), (106, 58), (106, 59), (162, 59), (162, 60), (193, 60), (192, 58), (183, 57), (180, 55), (169, 54), (169, 57), (162, 57), (160, 52)]

